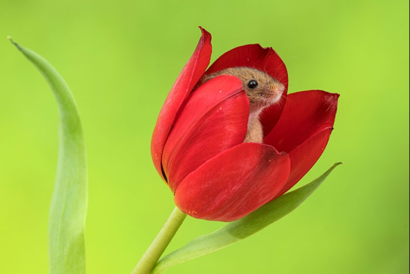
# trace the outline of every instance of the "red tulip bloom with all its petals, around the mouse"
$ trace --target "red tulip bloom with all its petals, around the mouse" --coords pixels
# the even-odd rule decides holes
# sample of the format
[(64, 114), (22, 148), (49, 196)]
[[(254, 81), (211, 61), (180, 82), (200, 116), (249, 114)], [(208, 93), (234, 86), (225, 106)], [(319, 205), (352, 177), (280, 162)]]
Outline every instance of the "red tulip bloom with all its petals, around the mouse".
[[(288, 191), (312, 168), (328, 143), (339, 95), (286, 95), (285, 64), (258, 44), (232, 49), (206, 70), (211, 34), (201, 30), (161, 109), (151, 153), (182, 212), (233, 221)], [(239, 78), (222, 75), (196, 86), (204, 74), (231, 67), (264, 71), (285, 87), (281, 102), (261, 114), (262, 144), (244, 143), (249, 100)]]

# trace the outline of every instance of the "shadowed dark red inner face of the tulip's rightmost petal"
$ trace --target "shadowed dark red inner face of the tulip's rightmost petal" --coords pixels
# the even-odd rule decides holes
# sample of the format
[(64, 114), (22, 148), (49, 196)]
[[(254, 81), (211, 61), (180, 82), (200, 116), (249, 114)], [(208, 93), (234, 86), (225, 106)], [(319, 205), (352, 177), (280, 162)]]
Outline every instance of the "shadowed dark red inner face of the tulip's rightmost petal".
[(326, 91), (289, 94), (279, 121), (263, 143), (290, 153), (312, 134), (333, 126), (338, 97)]

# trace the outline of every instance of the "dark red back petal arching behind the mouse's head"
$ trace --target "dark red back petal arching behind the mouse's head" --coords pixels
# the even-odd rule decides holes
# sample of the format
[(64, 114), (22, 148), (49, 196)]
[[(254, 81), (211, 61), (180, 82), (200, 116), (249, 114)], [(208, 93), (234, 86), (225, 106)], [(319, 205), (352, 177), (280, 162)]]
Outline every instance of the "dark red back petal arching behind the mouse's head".
[[(209, 67), (205, 74), (232, 67), (250, 67), (264, 71), (285, 86), (279, 103), (264, 110), (261, 115), (263, 132), (270, 132), (278, 121), (286, 102), (288, 72), (285, 63), (272, 48), (262, 48), (259, 44), (252, 44), (240, 46), (224, 53)], [(266, 111), (267, 115), (264, 114)]]

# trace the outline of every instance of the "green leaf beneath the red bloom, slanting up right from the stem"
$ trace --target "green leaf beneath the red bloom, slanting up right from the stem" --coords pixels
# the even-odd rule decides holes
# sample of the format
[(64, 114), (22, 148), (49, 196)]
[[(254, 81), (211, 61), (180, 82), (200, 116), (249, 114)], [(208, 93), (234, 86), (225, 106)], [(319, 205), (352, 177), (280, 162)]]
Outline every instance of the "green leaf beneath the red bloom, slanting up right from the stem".
[(331, 171), (342, 163), (334, 164), (321, 177), (296, 190), (288, 192), (253, 211), (246, 217), (227, 224), (223, 228), (201, 237), (198, 237), (182, 248), (163, 257), (155, 265), (152, 274), (159, 274), (166, 269), (200, 256), (217, 251), (239, 242), (258, 232), (271, 223), (295, 210), (308, 198), (318, 186), (325, 181)]

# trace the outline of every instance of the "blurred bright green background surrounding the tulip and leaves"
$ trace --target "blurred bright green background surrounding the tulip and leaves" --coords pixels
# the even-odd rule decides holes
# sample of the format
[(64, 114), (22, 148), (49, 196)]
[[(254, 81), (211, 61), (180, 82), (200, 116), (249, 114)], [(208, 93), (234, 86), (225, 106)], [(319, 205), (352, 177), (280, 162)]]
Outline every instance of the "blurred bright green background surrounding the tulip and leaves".
[[(289, 92), (341, 94), (335, 130), (299, 185), (345, 162), (295, 212), (166, 273), (409, 272), (409, 1), (0, 2), (0, 273), (46, 273), (57, 105), (6, 39), (46, 59), (82, 115), (89, 274), (130, 273), (173, 209), (151, 161), (164, 99), (200, 37), (215, 60), (273, 47)], [(170, 252), (223, 223), (188, 217)]]

